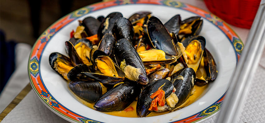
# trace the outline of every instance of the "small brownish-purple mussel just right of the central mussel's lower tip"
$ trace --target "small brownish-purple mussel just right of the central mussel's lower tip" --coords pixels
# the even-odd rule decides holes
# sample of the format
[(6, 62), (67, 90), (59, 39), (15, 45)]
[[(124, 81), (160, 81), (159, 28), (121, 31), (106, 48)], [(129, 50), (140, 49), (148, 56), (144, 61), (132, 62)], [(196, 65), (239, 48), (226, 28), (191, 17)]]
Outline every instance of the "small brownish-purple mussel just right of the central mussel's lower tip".
[(156, 80), (166, 79), (169, 74), (169, 69), (160, 69), (148, 75), (149, 83), (153, 83)]

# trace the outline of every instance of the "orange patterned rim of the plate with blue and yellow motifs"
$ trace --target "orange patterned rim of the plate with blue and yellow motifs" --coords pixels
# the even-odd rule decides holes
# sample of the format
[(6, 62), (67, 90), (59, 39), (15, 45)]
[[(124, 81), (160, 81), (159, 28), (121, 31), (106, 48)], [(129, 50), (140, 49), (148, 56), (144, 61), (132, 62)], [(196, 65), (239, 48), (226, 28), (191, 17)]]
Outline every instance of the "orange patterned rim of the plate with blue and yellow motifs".
[[(37, 39), (36, 43), (34, 44), (30, 57), (28, 62), (28, 74), (29, 74), (29, 80), (31, 81), (31, 86), (34, 89), (36, 95), (41, 97), (41, 100), (43, 103), (46, 104), (47, 107), (50, 107), (53, 109), (53, 112), (57, 112), (61, 115), (61, 117), (68, 118), (72, 121), (76, 122), (83, 122), (83, 123), (99, 123), (100, 121), (94, 121), (92, 119), (89, 119), (87, 117), (81, 116), (79, 114), (76, 114), (75, 112), (70, 111), (63, 105), (61, 105), (53, 96), (50, 94), (48, 89), (46, 88), (45, 84), (43, 83), (43, 80), (41, 78), (41, 74), (39, 71), (40, 67), (40, 61), (42, 52), (44, 51), (44, 48), (46, 47), (46, 44), (51, 40), (51, 38), (65, 25), (69, 24), (70, 22), (76, 20), (77, 18), (84, 16), (92, 11), (97, 11), (103, 8), (107, 7), (113, 7), (118, 5), (124, 5), (124, 4), (154, 4), (154, 5), (162, 5), (162, 6), (168, 6), (168, 7), (174, 7), (179, 8), (182, 10), (190, 11), (192, 13), (195, 13), (209, 22), (213, 23), (215, 26), (217, 26), (229, 39), (230, 43), (234, 46), (234, 51), (236, 53), (236, 59), (237, 62), (240, 58), (242, 49), (244, 47), (243, 42), (238, 37), (237, 34), (229, 27), (227, 23), (225, 23), (223, 20), (218, 18), (217, 16), (201, 10), (197, 7), (191, 6), (186, 3), (177, 2), (174, 0), (116, 0), (116, 1), (110, 1), (110, 2), (99, 2), (96, 4), (92, 4), (83, 8), (80, 8), (76, 11), (71, 12), (70, 14), (62, 17), (60, 20), (56, 21), (54, 24), (52, 24), (47, 30), (45, 30), (44, 33), (41, 34), (41, 36)], [(225, 93), (222, 97), (220, 97), (216, 102), (214, 102), (211, 106), (205, 108), (201, 112), (198, 112), (192, 116), (186, 117), (184, 119), (173, 121), (177, 123), (181, 122), (197, 122), (202, 119), (205, 119), (206, 117), (214, 114), (215, 112), (218, 112), (220, 110), (220, 107), (222, 105), (222, 102), (224, 100)]]

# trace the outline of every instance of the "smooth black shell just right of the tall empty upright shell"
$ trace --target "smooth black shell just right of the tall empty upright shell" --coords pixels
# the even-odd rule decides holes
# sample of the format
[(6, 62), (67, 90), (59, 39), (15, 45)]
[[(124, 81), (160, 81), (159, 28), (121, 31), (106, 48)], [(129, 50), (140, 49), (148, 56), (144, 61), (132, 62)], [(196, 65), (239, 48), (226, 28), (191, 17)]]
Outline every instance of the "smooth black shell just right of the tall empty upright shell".
[(181, 16), (175, 15), (165, 23), (165, 27), (169, 33), (179, 34), (181, 25)]

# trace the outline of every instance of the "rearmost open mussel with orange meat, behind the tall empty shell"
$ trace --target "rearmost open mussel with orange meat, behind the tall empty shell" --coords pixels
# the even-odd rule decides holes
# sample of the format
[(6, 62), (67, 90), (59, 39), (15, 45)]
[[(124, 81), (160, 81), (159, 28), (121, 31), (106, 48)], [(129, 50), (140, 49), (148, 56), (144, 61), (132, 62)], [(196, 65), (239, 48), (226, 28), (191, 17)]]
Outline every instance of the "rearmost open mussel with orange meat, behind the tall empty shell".
[(131, 21), (132, 24), (135, 24), (139, 22), (141, 19), (148, 18), (148, 16), (151, 15), (151, 12), (148, 11), (139, 11), (134, 13), (132, 16), (129, 17), (129, 20)]

